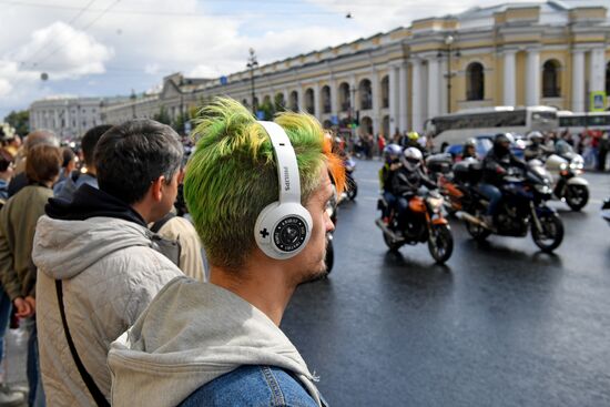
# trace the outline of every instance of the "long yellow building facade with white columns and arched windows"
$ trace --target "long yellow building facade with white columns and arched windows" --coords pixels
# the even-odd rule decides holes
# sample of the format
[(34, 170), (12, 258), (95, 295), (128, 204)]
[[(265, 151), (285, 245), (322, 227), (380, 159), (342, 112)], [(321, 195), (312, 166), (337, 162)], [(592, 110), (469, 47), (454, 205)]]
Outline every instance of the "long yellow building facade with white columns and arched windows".
[(113, 122), (151, 116), (165, 105), (175, 116), (230, 95), (246, 105), (302, 110), (325, 126), (357, 116), (362, 133), (389, 135), (472, 108), (540, 104), (580, 112), (594, 91), (610, 94), (607, 8), (547, 0), (417, 20), (222, 80), (167, 77), (161, 93), (105, 112)]

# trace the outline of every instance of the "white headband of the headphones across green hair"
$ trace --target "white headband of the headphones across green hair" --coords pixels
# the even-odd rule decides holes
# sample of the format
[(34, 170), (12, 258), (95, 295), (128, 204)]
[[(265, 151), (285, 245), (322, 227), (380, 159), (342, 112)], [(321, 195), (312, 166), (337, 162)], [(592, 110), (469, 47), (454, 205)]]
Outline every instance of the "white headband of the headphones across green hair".
[(298, 165), (288, 135), (277, 123), (268, 121), (257, 121), (257, 123), (265, 129), (273, 145), (275, 162), (277, 163), (279, 203), (294, 202), (301, 204)]

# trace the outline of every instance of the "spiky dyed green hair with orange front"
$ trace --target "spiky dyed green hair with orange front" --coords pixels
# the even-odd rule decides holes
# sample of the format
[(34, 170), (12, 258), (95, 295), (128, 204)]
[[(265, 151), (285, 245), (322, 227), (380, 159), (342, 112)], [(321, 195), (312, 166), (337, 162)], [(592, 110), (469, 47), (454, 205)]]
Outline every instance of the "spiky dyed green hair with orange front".
[[(305, 205), (328, 167), (338, 191), (345, 171), (331, 152), (319, 122), (305, 113), (275, 118), (291, 139)], [(271, 140), (238, 102), (218, 98), (200, 111), (193, 135), (199, 139), (184, 180), (184, 197), (214, 266), (237, 271), (254, 250), (254, 226), (261, 211), (278, 200), (277, 170)]]

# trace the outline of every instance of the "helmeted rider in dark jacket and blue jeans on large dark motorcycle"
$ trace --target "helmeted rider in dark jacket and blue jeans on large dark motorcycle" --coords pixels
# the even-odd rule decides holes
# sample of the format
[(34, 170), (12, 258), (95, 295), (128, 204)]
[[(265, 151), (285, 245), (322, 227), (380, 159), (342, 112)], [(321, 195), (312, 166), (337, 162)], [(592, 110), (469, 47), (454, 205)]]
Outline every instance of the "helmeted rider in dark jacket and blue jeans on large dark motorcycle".
[(489, 206), (484, 216), (484, 222), (489, 228), (494, 225), (494, 216), (502, 200), (500, 186), (504, 183), (504, 176), (510, 167), (527, 169), (527, 164), (510, 152), (512, 140), (510, 133), (496, 134), (494, 147), (482, 160), (482, 181), (479, 184), (479, 191), (489, 200)]

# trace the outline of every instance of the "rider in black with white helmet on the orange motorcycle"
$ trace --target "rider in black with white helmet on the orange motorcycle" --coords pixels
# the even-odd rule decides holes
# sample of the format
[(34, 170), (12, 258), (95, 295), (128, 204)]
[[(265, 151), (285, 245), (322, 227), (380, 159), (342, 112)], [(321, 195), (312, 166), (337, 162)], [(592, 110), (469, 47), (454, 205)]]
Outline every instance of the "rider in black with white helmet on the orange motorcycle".
[(398, 225), (400, 227), (395, 232), (397, 235), (401, 234), (407, 224), (409, 201), (417, 195), (419, 187), (424, 185), (428, 190), (437, 189), (437, 185), (423, 171), (423, 159), (424, 156), (419, 149), (406, 149), (400, 157), (403, 165), (400, 165), (392, 180), (393, 189), (398, 196)]

